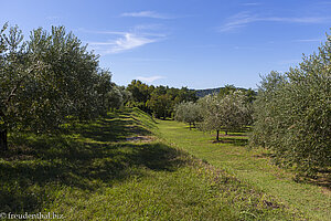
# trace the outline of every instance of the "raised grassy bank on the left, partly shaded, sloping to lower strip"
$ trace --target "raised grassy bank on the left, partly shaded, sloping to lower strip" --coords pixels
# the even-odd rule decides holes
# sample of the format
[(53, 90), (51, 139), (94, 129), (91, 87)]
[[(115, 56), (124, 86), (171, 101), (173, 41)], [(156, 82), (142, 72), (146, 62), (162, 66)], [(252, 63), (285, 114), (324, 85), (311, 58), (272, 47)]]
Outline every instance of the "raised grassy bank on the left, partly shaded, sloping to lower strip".
[(163, 131), (171, 124), (125, 109), (68, 125), (57, 136), (12, 135), (0, 158), (0, 212), (54, 212), (65, 220), (301, 219), (259, 188), (160, 140), (158, 126)]

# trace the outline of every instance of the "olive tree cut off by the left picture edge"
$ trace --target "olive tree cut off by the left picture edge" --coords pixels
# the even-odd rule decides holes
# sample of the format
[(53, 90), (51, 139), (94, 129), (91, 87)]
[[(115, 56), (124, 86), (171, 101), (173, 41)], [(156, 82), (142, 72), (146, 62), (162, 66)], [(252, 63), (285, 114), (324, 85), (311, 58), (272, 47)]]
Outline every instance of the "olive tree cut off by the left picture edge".
[(35, 72), (43, 72), (41, 63), (29, 63), (26, 44), (18, 27), (0, 32), (0, 149), (8, 148), (8, 131), (28, 123), (34, 99), (26, 91), (39, 88)]

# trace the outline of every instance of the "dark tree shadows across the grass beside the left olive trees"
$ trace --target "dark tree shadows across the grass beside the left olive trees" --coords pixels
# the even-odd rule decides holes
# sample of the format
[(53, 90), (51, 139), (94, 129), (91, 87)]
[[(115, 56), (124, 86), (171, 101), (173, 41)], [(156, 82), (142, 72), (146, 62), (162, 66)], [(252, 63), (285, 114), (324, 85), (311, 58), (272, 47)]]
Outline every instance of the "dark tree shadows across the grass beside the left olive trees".
[(164, 144), (113, 143), (138, 130), (150, 134), (132, 124), (129, 115), (127, 120), (124, 117), (76, 127), (74, 133), (81, 128), (81, 135), (89, 141), (67, 136), (17, 137), (14, 146), (0, 157), (1, 211), (42, 211), (43, 204), (52, 201), (50, 188), (90, 191), (143, 176), (147, 170), (174, 171), (184, 164), (178, 150)]

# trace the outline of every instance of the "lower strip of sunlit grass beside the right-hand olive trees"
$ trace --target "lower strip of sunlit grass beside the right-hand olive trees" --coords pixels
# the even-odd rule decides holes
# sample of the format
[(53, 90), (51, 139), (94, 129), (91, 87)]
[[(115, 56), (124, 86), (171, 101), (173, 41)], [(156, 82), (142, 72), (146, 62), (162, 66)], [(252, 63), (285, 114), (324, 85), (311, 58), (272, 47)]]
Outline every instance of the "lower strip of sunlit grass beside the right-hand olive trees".
[(214, 135), (189, 130), (182, 123), (160, 120), (158, 126), (160, 136), (168, 144), (274, 196), (288, 210), (301, 213), (308, 220), (331, 220), (330, 186), (295, 182), (293, 173), (274, 166), (267, 151), (248, 150), (244, 133), (221, 137), (221, 143), (213, 143)]

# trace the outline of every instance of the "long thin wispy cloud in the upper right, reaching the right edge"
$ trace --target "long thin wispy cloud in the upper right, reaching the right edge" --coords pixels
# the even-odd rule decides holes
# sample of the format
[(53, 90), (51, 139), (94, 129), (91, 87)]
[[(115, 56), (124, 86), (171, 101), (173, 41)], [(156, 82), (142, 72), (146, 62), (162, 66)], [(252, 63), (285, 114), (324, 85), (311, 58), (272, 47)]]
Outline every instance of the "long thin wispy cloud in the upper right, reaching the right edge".
[(287, 23), (325, 23), (331, 22), (331, 17), (261, 17), (249, 12), (241, 12), (227, 19), (217, 30), (231, 32), (254, 22), (287, 22)]

